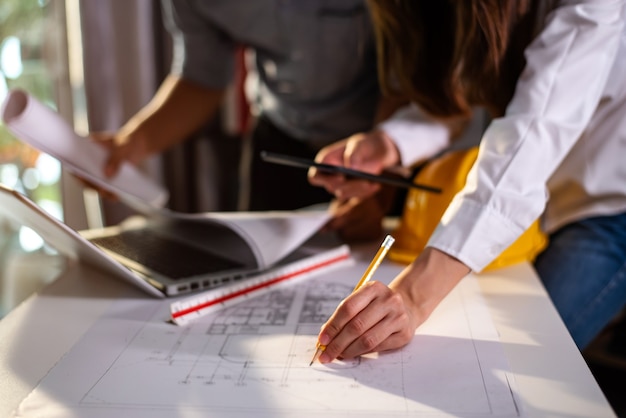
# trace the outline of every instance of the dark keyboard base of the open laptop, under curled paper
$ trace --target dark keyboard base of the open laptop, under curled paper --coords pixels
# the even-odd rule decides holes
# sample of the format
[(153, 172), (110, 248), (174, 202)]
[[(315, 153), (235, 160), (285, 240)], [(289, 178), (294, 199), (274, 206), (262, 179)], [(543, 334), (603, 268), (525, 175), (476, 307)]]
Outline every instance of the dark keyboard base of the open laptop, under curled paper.
[(234, 231), (214, 223), (141, 216), (79, 234), (167, 296), (233, 283), (262, 270)]

